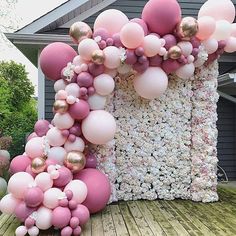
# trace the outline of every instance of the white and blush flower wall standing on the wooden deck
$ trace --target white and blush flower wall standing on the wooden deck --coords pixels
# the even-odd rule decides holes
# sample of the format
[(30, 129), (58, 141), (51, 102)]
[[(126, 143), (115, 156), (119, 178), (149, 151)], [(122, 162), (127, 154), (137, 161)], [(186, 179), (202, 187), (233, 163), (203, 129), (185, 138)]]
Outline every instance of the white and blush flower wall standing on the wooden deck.
[(201, 67), (190, 80), (170, 77), (166, 93), (151, 101), (132, 89), (132, 76), (116, 79), (106, 110), (116, 118), (115, 139), (93, 146), (110, 179), (110, 201), (218, 200), (218, 65)]

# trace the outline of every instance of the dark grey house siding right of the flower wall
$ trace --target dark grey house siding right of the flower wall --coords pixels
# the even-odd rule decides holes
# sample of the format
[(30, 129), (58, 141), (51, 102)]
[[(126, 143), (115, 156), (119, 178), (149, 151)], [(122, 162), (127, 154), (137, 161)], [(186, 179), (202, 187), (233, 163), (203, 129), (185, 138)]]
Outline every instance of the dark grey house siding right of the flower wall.
[(220, 98), (217, 112), (219, 165), (230, 180), (236, 180), (236, 105)]

